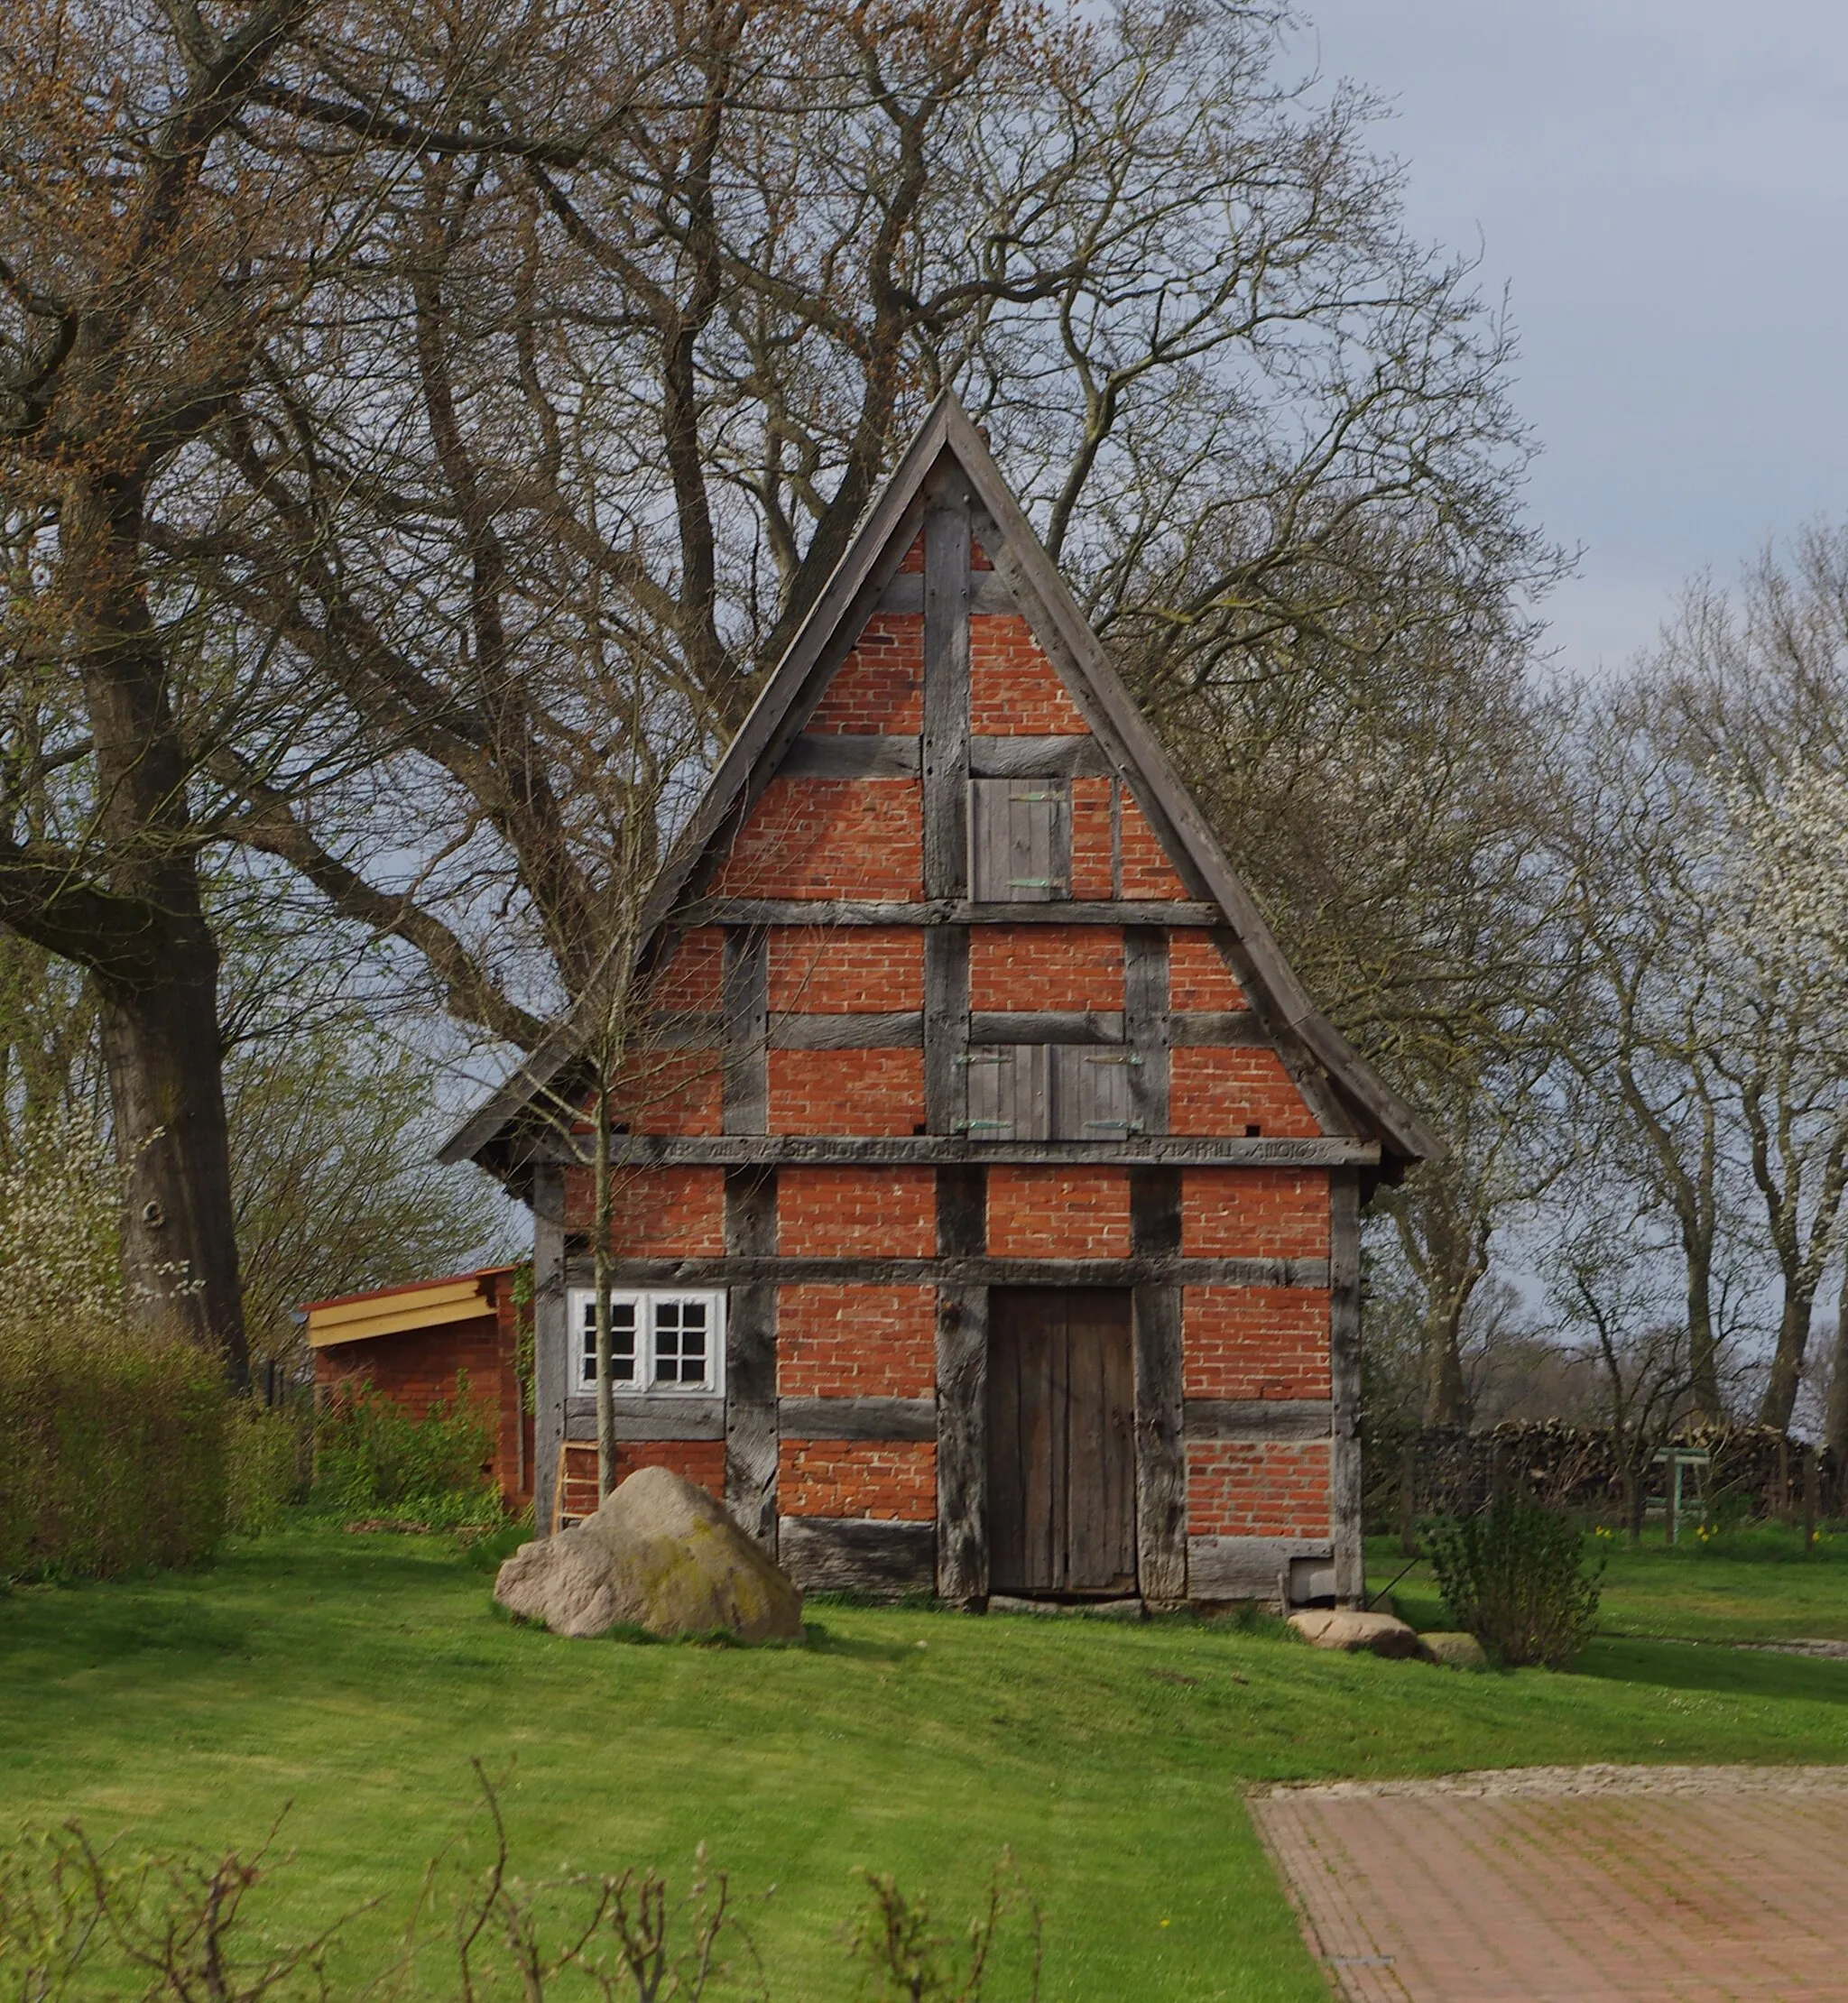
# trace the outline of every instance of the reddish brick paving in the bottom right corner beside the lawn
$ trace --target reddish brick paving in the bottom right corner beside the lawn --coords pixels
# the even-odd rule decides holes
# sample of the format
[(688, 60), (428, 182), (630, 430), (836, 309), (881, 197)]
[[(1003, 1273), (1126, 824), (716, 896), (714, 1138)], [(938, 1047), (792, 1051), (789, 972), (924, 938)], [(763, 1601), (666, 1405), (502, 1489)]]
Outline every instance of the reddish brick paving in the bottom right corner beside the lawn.
[(1345, 2003), (1848, 1999), (1848, 1767), (1538, 1767), (1251, 1811)]

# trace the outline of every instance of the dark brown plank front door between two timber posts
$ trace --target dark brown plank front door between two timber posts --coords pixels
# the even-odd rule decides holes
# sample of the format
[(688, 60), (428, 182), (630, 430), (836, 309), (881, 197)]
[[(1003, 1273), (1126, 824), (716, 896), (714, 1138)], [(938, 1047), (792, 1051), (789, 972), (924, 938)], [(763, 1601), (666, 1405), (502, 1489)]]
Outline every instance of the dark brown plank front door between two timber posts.
[(1129, 1294), (989, 1296), (989, 1586), (1135, 1592)]

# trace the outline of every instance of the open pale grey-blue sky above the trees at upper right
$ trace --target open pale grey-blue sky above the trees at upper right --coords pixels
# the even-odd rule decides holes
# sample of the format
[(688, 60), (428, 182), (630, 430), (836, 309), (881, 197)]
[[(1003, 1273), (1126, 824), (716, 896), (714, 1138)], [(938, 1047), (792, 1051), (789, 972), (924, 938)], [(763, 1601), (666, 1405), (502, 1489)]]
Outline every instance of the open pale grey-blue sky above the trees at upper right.
[(1394, 98), (1414, 228), (1510, 288), (1534, 511), (1584, 545), (1566, 665), (1620, 665), (1692, 571), (1848, 517), (1842, 0), (1305, 8), (1305, 52)]

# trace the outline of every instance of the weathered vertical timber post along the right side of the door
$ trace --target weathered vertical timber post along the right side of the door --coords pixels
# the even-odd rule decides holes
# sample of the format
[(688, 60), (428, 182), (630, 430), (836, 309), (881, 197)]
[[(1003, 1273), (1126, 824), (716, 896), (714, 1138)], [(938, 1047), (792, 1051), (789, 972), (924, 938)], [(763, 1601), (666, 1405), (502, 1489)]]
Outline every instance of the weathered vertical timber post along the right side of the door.
[[(1181, 1172), (1129, 1170), (1129, 1242), (1137, 1258), (1181, 1250)], [(1135, 1574), (1151, 1606), (1187, 1600), (1187, 1436), (1181, 1290), (1135, 1288)]]

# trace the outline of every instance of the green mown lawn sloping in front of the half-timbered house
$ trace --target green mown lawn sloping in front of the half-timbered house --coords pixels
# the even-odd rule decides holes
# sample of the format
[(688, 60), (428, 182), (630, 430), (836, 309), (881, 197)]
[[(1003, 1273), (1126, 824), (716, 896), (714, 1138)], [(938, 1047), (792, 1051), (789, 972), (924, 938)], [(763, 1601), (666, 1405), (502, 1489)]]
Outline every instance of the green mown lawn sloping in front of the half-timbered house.
[(364, 1955), (469, 1825), (481, 1757), (531, 1875), (685, 1881), (703, 1841), (741, 1893), (775, 1885), (751, 1927), (781, 1999), (853, 1993), (857, 1867), (959, 1919), (1003, 1847), (1045, 1909), (1047, 1997), (1319, 1999), (1247, 1783), (1848, 1759), (1848, 1664), (1640, 1638), (1726, 1606), (1750, 1624), (1798, 1586), (1788, 1630), (1848, 1632), (1828, 1546), (1800, 1566), (1618, 1558), (1620, 1634), (1574, 1675), (1514, 1677), (1231, 1624), (833, 1604), (807, 1648), (567, 1642), (493, 1616), (487, 1586), (446, 1538), (292, 1528), (198, 1576), (0, 1598), (6, 1821), (254, 1845), (292, 1803), (268, 1923), (306, 1933), (382, 1893)]

